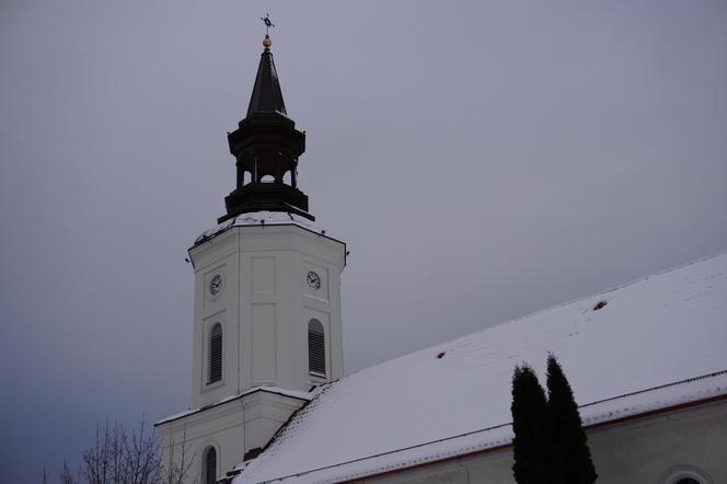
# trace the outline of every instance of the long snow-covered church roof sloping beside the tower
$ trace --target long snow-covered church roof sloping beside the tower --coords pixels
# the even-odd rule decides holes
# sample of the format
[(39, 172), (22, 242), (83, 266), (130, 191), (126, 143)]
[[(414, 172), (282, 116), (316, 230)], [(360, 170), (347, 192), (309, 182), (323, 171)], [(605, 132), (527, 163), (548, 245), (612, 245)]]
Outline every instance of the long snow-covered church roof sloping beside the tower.
[(586, 426), (727, 395), (727, 254), (324, 385), (235, 483), (341, 482), (509, 446), (510, 383), (553, 352)]

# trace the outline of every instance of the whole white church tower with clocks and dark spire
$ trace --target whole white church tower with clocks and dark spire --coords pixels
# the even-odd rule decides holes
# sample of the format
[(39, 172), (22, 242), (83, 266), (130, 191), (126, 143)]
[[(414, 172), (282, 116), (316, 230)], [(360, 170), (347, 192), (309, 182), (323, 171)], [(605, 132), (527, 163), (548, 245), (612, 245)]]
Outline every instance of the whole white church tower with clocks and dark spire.
[(343, 376), (346, 245), (320, 231), (298, 188), (305, 135), (287, 116), (270, 39), (246, 117), (228, 135), (236, 186), (189, 249), (195, 274), (192, 410), (157, 424), (162, 481), (210, 484), (256, 456)]

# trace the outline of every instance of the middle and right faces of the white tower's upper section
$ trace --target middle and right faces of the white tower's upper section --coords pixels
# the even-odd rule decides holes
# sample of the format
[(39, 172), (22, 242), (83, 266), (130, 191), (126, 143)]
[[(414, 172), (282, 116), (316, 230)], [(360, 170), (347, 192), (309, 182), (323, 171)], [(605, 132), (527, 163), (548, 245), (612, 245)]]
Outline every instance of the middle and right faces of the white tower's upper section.
[[(308, 321), (316, 316), (311, 309), (331, 327), (328, 379), (343, 376), (339, 284), (345, 246), (297, 226), (235, 230), (242, 283), (241, 390), (268, 384), (305, 391), (323, 381), (308, 373)], [(321, 277), (319, 290), (305, 283), (309, 270)]]

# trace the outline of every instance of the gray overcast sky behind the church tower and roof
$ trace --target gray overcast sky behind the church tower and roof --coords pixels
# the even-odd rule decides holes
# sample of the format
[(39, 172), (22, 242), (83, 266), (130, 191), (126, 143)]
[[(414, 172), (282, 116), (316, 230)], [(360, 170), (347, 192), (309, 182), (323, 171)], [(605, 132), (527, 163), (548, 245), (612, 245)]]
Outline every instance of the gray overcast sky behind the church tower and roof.
[(0, 482), (188, 406), (265, 12), (348, 372), (727, 250), (724, 1), (4, 0)]

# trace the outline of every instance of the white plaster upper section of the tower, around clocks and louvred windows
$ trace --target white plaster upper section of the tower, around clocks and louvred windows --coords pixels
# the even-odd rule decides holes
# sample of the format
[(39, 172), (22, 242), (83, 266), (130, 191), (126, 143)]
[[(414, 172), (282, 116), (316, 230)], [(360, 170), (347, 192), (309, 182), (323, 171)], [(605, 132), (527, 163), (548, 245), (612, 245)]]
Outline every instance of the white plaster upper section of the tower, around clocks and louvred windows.
[[(326, 330), (326, 379), (343, 376), (341, 273), (345, 244), (298, 226), (233, 227), (191, 249), (195, 267), (193, 406), (259, 385), (309, 390), (308, 321)], [(309, 270), (321, 277), (313, 290)], [(221, 274), (218, 297), (209, 281)], [(223, 325), (222, 381), (208, 384), (209, 329)]]

